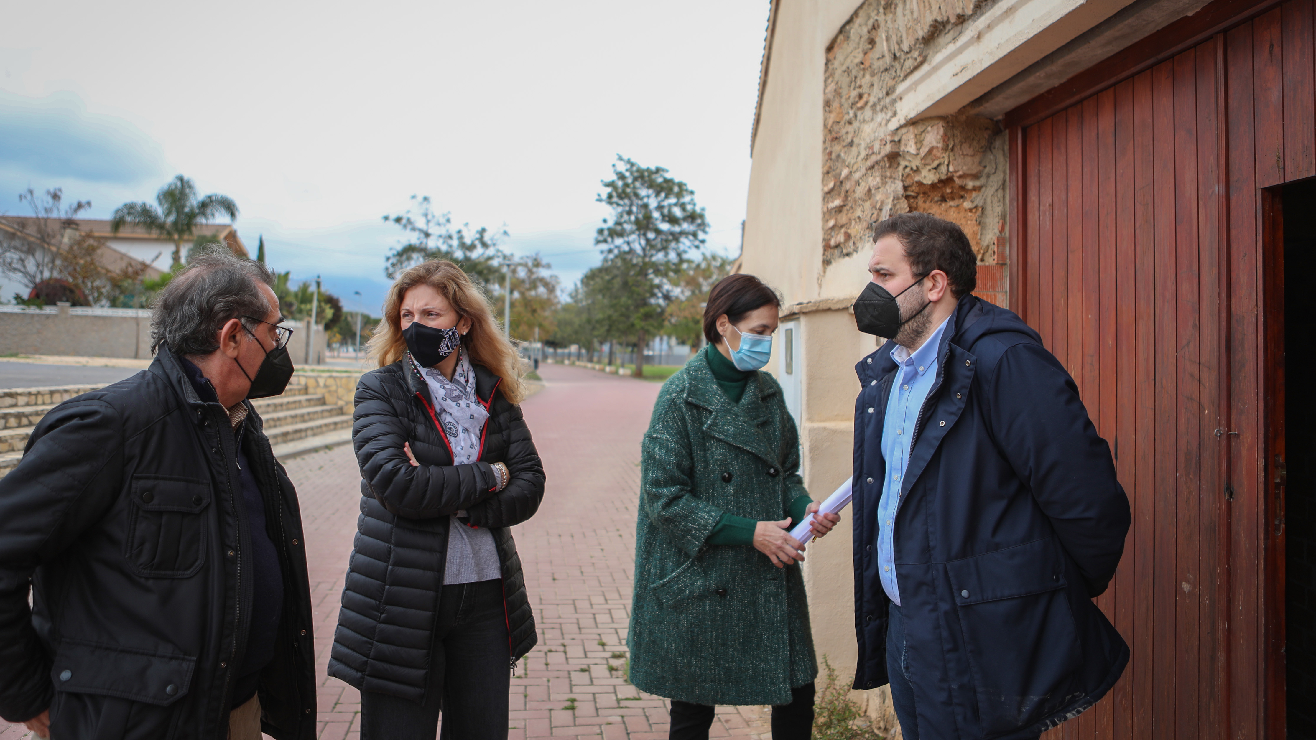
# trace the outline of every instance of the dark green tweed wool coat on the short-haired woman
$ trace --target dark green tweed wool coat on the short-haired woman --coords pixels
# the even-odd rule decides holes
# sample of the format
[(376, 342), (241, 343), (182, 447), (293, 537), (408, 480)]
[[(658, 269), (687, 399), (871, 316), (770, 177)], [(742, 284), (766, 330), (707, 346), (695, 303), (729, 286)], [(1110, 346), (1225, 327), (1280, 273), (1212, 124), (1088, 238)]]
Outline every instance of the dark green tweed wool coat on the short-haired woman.
[(750, 377), (740, 404), (695, 356), (658, 395), (641, 454), (630, 682), (697, 704), (788, 704), (817, 675), (799, 565), (711, 545), (724, 512), (788, 516), (807, 495), (782, 388)]

